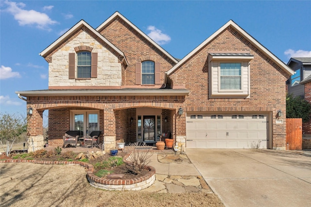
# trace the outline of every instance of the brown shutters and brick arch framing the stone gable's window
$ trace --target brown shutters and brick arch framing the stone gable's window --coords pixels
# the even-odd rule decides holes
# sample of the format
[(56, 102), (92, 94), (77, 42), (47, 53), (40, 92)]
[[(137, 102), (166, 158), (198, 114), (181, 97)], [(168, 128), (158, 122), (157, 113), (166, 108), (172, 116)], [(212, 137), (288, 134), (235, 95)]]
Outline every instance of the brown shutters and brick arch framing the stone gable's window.
[[(75, 52), (91, 52), (91, 78), (97, 78), (98, 53), (92, 52), (93, 48), (86, 45), (80, 45), (74, 48)], [(76, 53), (69, 53), (69, 79), (75, 79), (76, 70)]]

